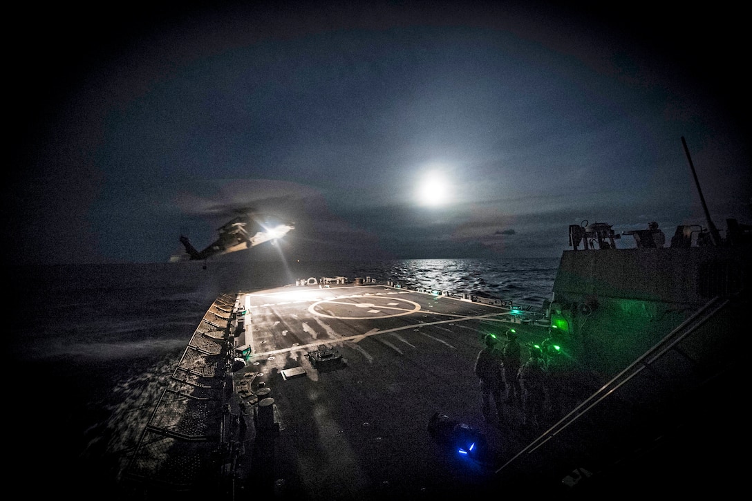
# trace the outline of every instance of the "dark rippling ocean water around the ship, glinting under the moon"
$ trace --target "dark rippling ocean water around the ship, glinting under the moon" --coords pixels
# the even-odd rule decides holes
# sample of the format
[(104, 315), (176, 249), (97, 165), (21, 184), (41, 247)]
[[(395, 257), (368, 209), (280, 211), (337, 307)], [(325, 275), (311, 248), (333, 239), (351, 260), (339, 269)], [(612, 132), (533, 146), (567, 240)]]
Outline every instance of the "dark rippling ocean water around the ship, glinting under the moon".
[[(115, 488), (187, 342), (217, 295), (345, 276), (539, 307), (558, 258), (377, 263), (155, 263), (6, 268), (14, 296), (6, 396), (10, 478), (34, 492)], [(7, 420), (8, 421), (8, 420)], [(34, 499), (34, 496), (32, 496)]]

